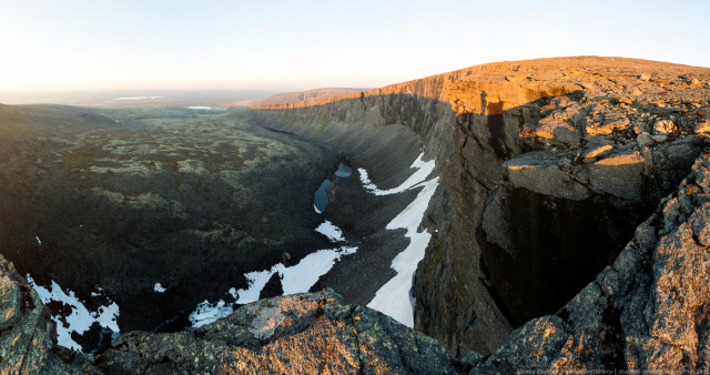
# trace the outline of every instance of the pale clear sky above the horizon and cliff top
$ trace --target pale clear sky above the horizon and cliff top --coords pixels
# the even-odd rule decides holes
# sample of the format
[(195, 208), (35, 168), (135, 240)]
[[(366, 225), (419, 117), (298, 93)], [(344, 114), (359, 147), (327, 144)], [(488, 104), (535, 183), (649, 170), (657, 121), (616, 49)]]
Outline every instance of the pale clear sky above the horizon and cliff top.
[(0, 91), (375, 88), (486, 62), (710, 67), (710, 1), (0, 0)]

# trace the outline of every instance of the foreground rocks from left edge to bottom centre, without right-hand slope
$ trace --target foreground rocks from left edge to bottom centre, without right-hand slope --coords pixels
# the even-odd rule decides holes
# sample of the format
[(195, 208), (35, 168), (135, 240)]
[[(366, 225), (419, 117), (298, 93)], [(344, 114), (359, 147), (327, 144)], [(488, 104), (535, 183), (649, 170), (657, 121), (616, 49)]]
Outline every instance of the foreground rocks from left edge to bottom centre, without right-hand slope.
[(200, 328), (130, 332), (93, 357), (55, 344), (37, 293), (0, 256), (0, 373), (457, 373), (438, 341), (329, 290), (244, 305)]

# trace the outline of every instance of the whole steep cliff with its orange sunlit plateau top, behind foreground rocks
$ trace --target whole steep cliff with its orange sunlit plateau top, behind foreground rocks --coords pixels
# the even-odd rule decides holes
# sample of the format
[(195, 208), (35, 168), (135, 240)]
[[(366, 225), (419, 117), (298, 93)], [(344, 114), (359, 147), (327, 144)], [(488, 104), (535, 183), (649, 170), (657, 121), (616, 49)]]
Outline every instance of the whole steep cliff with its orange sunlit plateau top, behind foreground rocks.
[[(710, 71), (618, 58), (503, 62), (263, 107), (387, 183), (403, 143), (436, 159), (415, 326), (490, 353), (613, 262), (707, 143)], [(315, 105), (320, 104), (320, 105)], [(397, 129), (396, 142), (381, 135)], [(387, 144), (393, 149), (387, 149)], [(373, 152), (376, 150), (376, 152)], [(394, 163), (393, 163), (394, 159)]]

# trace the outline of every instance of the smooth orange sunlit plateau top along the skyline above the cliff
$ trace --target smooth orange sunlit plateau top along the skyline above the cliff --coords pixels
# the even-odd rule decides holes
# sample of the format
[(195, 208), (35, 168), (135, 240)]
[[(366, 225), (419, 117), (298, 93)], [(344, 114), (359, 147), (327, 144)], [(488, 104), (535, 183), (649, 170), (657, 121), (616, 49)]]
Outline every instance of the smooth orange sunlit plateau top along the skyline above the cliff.
[[(659, 61), (606, 57), (551, 58), (494, 62), (390, 84), (362, 94), (349, 92), (325, 98), (290, 98), (288, 102), (263, 102), (252, 108), (301, 108), (361, 97), (413, 94), (450, 103), (456, 113), (483, 114), (480, 104), (484, 97), (480, 94), (490, 92), (490, 98), (486, 98), (485, 114), (497, 114), (542, 97), (577, 90), (611, 91), (632, 97), (671, 92), (692, 95), (692, 90), (688, 89), (707, 88), (707, 78), (708, 68)], [(693, 79), (696, 83), (692, 83)], [(702, 83), (701, 79), (704, 79)], [(274, 97), (280, 95), (284, 94)]]

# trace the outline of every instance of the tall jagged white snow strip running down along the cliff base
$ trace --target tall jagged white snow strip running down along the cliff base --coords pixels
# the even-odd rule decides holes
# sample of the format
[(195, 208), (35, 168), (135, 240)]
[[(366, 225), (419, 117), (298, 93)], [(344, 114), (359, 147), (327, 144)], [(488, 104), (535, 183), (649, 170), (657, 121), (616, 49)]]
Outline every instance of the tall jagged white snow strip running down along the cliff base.
[(376, 195), (395, 194), (409, 189), (422, 188), (417, 197), (386, 226), (388, 230), (406, 229), (405, 236), (409, 237), (409, 245), (392, 261), (392, 268), (397, 271), (397, 275), (383, 285), (373, 301), (367, 304), (368, 307), (389, 315), (408, 327), (414, 326), (414, 308), (410, 297), (412, 280), (417, 270), (417, 264), (424, 259), (426, 246), (432, 239), (430, 233), (426, 231), (419, 233), (417, 227), (422, 223), (422, 219), (424, 219), (424, 213), (429, 206), (429, 200), (434, 195), (439, 181), (439, 178), (425, 181), (434, 171), (435, 161), (424, 162), (423, 158), (424, 153), (412, 164), (412, 168), (417, 169), (416, 172), (399, 186), (389, 190), (377, 189), (367, 178), (367, 172), (358, 169), (363, 185)]

